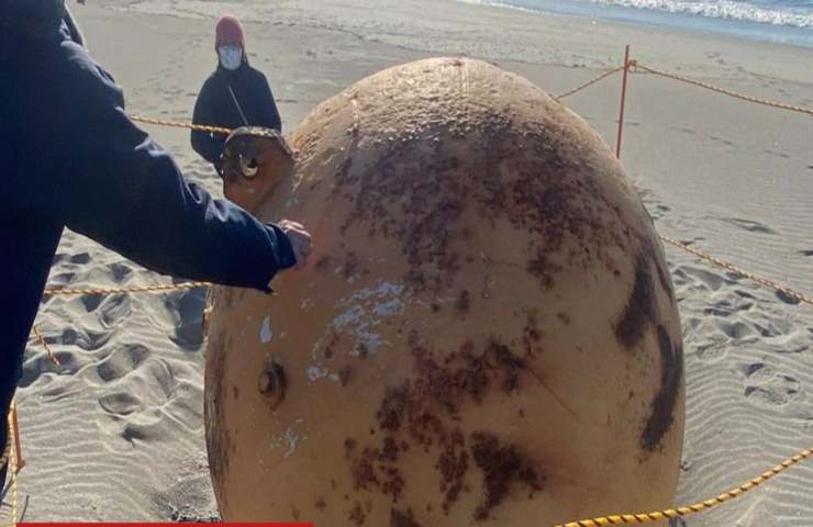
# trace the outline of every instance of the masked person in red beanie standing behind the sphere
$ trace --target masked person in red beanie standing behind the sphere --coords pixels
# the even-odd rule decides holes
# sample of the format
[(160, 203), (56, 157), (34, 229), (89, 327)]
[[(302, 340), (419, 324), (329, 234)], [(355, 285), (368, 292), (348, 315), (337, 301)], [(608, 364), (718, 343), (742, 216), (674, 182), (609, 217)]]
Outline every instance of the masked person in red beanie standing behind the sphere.
[[(218, 69), (198, 94), (192, 121), (227, 128), (263, 126), (281, 132), (282, 122), (268, 79), (248, 65), (245, 31), (240, 20), (222, 16), (214, 34)], [(219, 172), (224, 142), (223, 135), (192, 132), (192, 148)]]

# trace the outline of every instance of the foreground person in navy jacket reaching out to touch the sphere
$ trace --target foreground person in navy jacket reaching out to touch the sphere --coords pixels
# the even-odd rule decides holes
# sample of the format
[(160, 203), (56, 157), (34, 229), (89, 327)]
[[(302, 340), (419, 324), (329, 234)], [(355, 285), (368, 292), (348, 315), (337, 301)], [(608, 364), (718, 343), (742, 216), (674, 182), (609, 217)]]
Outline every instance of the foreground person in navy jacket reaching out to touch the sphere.
[(301, 225), (187, 182), (66, 16), (64, 0), (0, 0), (0, 445), (65, 227), (160, 273), (265, 292), (311, 247)]

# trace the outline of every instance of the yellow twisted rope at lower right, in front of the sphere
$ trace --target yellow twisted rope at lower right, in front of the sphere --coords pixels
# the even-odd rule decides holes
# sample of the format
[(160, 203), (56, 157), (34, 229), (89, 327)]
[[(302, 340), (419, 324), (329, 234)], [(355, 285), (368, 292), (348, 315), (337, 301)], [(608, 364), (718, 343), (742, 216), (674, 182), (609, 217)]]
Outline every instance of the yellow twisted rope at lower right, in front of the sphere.
[(608, 525), (626, 525), (626, 524), (647, 524), (649, 522), (660, 522), (668, 518), (677, 518), (681, 516), (689, 516), (691, 514), (700, 513), (701, 511), (708, 511), (717, 505), (734, 500), (735, 497), (742, 496), (746, 492), (756, 489), (766, 481), (770, 480), (777, 474), (784, 472), (794, 464), (803, 461), (813, 456), (813, 449), (805, 449), (797, 453), (792, 458), (788, 458), (781, 463), (777, 464), (772, 469), (754, 478), (753, 480), (743, 483), (742, 485), (726, 491), (719, 496), (705, 500), (704, 502), (695, 503), (687, 507), (668, 508), (666, 511), (656, 511), (653, 513), (639, 513), (639, 514), (616, 514), (613, 516), (602, 516), (592, 519), (580, 519), (578, 522), (570, 522), (568, 524), (559, 524), (556, 527), (604, 527)]

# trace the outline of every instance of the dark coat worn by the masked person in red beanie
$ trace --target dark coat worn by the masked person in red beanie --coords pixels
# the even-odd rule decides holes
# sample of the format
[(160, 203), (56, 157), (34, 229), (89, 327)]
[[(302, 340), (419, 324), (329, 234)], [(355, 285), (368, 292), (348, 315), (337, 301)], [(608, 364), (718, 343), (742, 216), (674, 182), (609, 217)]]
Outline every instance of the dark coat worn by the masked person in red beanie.
[[(277, 103), (266, 76), (252, 68), (247, 61), (234, 71), (218, 66), (198, 94), (192, 121), (196, 124), (226, 128), (250, 125), (282, 131)], [(192, 132), (192, 148), (203, 159), (215, 162), (223, 153), (225, 139), (222, 134)]]

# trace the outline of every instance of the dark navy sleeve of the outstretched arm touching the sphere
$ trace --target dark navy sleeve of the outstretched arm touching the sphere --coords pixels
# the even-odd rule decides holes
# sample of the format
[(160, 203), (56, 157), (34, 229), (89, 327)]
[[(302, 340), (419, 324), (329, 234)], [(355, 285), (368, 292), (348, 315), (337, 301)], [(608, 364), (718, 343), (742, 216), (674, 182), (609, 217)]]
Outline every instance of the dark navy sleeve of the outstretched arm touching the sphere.
[(130, 121), (112, 79), (79, 69), (60, 87), (76, 93), (67, 122), (82, 137), (70, 144), (66, 170), (52, 175), (60, 220), (158, 272), (268, 291), (274, 274), (294, 264), (288, 237), (188, 183)]

